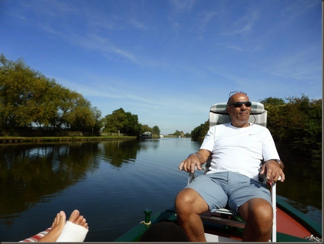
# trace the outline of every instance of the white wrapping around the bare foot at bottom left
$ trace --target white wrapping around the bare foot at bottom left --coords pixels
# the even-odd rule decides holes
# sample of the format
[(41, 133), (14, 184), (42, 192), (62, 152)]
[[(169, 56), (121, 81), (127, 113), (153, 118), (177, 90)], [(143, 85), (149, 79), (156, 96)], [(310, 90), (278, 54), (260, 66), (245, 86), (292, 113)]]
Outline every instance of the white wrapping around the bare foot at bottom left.
[(86, 238), (89, 229), (66, 221), (62, 233), (57, 238), (56, 242), (83, 242)]

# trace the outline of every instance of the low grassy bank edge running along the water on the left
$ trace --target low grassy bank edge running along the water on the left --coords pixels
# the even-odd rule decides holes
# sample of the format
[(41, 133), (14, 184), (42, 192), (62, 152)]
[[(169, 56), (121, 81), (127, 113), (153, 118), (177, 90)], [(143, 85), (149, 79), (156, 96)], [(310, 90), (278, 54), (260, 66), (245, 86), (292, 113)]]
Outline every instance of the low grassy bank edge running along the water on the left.
[(136, 137), (129, 136), (101, 136), (101, 137), (0, 137), (0, 143), (22, 143), (22, 142), (68, 142), (68, 141), (110, 141), (136, 139)]

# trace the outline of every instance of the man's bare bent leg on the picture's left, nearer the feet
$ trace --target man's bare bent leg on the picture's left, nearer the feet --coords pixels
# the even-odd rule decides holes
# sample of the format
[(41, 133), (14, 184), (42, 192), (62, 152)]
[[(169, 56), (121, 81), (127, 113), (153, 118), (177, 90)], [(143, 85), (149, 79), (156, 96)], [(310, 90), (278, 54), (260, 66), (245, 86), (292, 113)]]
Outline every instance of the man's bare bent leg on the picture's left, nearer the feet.
[(206, 241), (204, 226), (199, 214), (209, 210), (205, 200), (193, 189), (182, 190), (175, 202), (181, 228), (190, 241)]

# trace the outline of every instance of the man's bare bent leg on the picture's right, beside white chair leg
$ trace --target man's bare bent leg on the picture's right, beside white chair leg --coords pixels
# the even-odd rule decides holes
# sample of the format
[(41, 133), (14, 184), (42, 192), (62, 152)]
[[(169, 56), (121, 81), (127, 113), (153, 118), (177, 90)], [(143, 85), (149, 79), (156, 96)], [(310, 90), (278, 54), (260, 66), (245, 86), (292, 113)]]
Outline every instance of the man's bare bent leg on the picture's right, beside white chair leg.
[(271, 238), (273, 211), (271, 204), (262, 198), (253, 198), (242, 204), (237, 212), (246, 225), (243, 241), (269, 241)]

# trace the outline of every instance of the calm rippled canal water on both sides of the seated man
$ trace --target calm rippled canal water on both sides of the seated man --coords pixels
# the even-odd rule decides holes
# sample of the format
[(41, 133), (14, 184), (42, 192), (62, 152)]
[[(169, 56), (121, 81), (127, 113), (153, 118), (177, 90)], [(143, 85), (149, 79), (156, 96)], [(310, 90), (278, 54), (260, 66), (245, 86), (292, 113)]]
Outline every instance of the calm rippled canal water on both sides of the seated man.
[[(85, 241), (113, 241), (144, 220), (144, 209), (173, 206), (188, 177), (178, 165), (199, 147), (186, 138), (0, 145), (0, 241), (30, 237), (74, 209), (89, 223)], [(280, 155), (286, 181), (277, 194), (321, 223), (321, 166), (314, 172)]]

